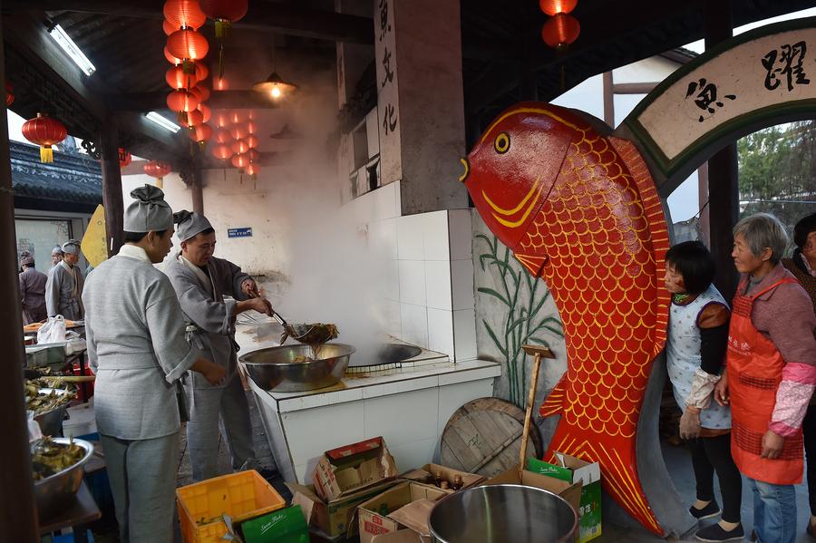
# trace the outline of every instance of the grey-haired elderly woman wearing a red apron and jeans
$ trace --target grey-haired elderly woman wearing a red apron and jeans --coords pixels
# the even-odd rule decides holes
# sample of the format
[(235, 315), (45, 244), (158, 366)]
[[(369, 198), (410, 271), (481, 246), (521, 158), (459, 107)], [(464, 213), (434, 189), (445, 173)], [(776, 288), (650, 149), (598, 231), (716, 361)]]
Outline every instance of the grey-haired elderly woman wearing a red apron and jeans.
[(714, 398), (731, 403), (731, 451), (753, 492), (753, 528), (762, 543), (793, 543), (801, 482), (801, 422), (816, 383), (811, 299), (780, 260), (782, 223), (758, 213), (733, 228), (733, 297), (727, 373)]

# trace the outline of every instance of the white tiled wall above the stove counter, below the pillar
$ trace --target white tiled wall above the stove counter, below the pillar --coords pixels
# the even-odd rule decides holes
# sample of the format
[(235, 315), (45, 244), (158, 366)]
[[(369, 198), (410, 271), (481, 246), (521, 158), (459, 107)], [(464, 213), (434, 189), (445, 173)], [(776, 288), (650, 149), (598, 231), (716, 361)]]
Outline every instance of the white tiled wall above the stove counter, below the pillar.
[(402, 217), (399, 182), (346, 207), (367, 225), (369, 247), (389, 261), (384, 267), (386, 332), (455, 360), (475, 358), (470, 210)]

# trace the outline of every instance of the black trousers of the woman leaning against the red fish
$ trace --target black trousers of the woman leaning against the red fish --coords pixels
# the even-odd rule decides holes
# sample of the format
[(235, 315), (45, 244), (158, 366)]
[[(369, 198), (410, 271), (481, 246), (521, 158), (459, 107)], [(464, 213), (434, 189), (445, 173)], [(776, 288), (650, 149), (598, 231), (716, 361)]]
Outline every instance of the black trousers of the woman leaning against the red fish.
[(714, 499), (714, 470), (720, 480), (723, 494), (723, 520), (740, 521), (740, 505), (743, 498), (743, 478), (731, 456), (731, 434), (689, 441), (692, 465), (697, 482), (697, 499)]

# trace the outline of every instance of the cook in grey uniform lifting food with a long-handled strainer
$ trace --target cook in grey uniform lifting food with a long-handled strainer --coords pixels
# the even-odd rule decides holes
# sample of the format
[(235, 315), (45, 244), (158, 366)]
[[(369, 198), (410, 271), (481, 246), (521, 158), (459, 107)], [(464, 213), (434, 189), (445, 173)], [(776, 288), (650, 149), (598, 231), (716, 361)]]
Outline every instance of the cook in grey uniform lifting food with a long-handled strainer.
[[(257, 467), (247, 394), (238, 375), (235, 317), (248, 309), (271, 314), (258, 296), (255, 280), (241, 268), (213, 257), (216, 239), (209, 220), (198, 213), (175, 215), (181, 252), (164, 267), (179, 296), (188, 339), (205, 358), (227, 370), (223, 384), (213, 386), (192, 374), (185, 383), (189, 397), (187, 445), (194, 480), (219, 475), (219, 419), (234, 470)], [(232, 299), (224, 299), (224, 296)]]

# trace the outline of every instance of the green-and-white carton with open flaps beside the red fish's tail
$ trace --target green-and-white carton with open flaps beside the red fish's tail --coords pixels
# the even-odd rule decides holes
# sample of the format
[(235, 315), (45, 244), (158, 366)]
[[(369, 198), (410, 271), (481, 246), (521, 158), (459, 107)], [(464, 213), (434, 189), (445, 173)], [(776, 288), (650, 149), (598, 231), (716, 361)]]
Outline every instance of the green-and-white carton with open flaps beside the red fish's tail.
[(600, 466), (561, 452), (555, 454), (560, 465), (529, 458), (527, 468), (559, 480), (581, 483), (581, 499), (576, 508), (580, 515), (578, 543), (585, 543), (602, 533)]

